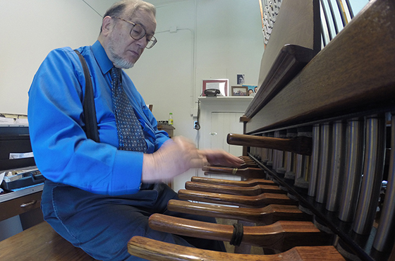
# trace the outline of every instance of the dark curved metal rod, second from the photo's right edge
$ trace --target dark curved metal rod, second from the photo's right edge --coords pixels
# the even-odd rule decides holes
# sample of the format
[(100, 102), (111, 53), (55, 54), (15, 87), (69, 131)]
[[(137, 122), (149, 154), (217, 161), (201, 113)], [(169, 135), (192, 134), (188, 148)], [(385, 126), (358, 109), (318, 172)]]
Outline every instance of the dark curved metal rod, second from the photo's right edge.
[(370, 233), (375, 221), (379, 192), (382, 186), (385, 154), (384, 115), (366, 119), (366, 147), (362, 186), (356, 210), (353, 231), (359, 234)]

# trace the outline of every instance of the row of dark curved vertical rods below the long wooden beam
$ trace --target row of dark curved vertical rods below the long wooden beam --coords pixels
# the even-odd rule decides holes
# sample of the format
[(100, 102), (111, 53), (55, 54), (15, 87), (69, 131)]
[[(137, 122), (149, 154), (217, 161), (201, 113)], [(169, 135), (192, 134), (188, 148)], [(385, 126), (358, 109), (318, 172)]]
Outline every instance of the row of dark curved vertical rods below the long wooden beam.
[[(288, 170), (285, 173), (259, 159), (258, 152), (262, 152), (262, 159), (264, 154), (269, 157), (267, 149), (249, 147), (250, 157), (267, 172), (267, 178), (281, 183), (288, 196), (299, 202), (300, 210), (305, 211), (307, 206), (305, 212), (312, 214), (317, 228), (336, 234), (334, 245), (339, 253), (351, 260), (389, 260), (390, 250), (394, 247), (394, 237), (390, 234), (395, 228), (395, 116), (389, 115), (388, 111), (310, 125), (311, 156), (296, 154), (296, 162), (284, 160), (284, 168)], [(263, 138), (265, 133), (255, 136)], [(386, 150), (386, 145), (391, 150)], [(386, 154), (386, 151), (390, 153)], [(274, 157), (277, 150), (269, 153)], [(303, 161), (302, 157), (310, 157), (310, 160)], [(300, 169), (308, 171), (303, 174)], [(293, 171), (295, 175), (287, 174)], [(387, 180), (383, 180), (383, 176)], [(300, 186), (300, 178), (307, 186)], [(387, 188), (384, 204), (379, 205), (383, 183), (387, 183)], [(374, 238), (374, 241), (368, 238)]]

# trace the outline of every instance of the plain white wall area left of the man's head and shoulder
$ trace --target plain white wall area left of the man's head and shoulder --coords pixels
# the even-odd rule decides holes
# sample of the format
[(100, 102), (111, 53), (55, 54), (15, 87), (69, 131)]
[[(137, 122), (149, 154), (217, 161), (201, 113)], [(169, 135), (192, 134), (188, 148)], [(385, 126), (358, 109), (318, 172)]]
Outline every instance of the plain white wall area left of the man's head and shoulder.
[(48, 52), (91, 44), (101, 20), (80, 0), (0, 0), (0, 112), (26, 114), (32, 78)]

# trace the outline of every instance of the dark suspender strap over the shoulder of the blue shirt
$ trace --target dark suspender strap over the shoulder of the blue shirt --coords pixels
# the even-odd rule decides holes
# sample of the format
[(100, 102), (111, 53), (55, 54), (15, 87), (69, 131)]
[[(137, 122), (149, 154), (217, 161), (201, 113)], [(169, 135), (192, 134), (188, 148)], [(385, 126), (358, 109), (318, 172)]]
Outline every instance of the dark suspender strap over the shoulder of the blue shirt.
[(93, 97), (93, 87), (92, 80), (90, 80), (89, 69), (87, 68), (87, 63), (85, 58), (79, 51), (74, 50), (80, 58), (80, 62), (83, 65), (84, 75), (85, 75), (85, 97), (84, 97), (84, 116), (85, 116), (85, 133), (88, 139), (95, 140), (95, 142), (100, 142), (99, 132), (97, 131), (97, 119), (96, 119), (96, 109), (95, 109), (95, 98)]

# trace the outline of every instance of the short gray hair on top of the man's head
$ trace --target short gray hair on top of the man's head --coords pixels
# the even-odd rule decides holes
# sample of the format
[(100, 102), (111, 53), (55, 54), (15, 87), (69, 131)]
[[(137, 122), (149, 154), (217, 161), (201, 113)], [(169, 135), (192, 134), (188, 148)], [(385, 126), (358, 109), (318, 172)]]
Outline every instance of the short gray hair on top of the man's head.
[[(153, 4), (147, 3), (142, 0), (121, 0), (108, 8), (106, 13), (104, 13), (103, 18), (106, 16), (121, 17), (123, 14), (126, 14), (128, 18), (130, 18), (137, 10), (144, 10), (150, 12), (154, 16), (156, 16), (157, 14), (157, 8), (155, 8)], [(102, 27), (100, 27), (100, 32), (102, 32)]]

